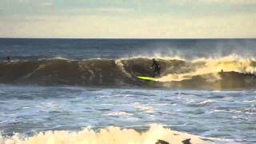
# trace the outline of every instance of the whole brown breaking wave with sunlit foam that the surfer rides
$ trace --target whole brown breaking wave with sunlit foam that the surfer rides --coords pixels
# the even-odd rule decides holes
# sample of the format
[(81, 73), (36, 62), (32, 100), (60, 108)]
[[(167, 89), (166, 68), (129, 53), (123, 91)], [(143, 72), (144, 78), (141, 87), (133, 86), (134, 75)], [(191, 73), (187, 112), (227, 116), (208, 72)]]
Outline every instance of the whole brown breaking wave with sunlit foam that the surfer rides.
[(62, 58), (0, 63), (0, 82), (5, 84), (75, 86), (167, 86), (179, 88), (252, 88), (256, 83), (256, 60), (230, 55), (223, 58), (184, 60), (158, 58), (162, 66), (158, 82), (137, 76), (153, 75), (150, 58), (88, 59)]

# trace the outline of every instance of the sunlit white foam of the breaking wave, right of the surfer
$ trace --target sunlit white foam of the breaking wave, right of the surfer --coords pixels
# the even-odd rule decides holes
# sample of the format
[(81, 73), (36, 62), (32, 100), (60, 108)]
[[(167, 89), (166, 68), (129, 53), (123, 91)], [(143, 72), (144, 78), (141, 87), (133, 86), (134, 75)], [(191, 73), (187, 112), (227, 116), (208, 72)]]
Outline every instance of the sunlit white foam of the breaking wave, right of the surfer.
[(223, 58), (200, 58), (191, 61), (192, 64), (197, 62), (202, 63), (194, 71), (181, 74), (167, 74), (162, 78), (158, 78), (159, 82), (182, 81), (191, 79), (196, 75), (205, 75), (206, 79), (210, 82), (220, 79), (218, 72), (220, 71), (235, 71), (244, 74), (256, 74), (256, 66), (252, 63), (255, 62), (254, 58), (241, 58), (238, 55), (231, 54)]

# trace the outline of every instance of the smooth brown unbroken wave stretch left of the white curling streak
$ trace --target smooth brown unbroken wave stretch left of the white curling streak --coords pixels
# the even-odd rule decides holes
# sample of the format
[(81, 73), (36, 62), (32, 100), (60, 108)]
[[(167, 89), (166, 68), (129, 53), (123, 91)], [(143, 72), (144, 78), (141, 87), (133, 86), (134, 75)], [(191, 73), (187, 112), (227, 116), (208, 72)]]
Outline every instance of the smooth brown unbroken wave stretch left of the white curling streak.
[(2, 83), (41, 85), (114, 85), (123, 79), (114, 60), (68, 61), (63, 59), (11, 62), (0, 65)]

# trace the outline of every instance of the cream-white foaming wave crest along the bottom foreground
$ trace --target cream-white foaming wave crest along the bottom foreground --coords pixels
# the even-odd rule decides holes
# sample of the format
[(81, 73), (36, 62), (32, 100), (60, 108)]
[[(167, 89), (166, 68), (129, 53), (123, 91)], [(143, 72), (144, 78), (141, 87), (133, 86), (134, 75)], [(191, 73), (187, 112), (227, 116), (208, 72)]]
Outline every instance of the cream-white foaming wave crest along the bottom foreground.
[[(202, 138), (192, 134), (181, 133), (178, 131), (168, 130), (162, 126), (151, 126), (150, 130), (139, 133), (133, 129), (120, 129), (118, 127), (109, 127), (99, 131), (85, 129), (78, 132), (69, 131), (47, 131), (39, 133), (29, 138), (22, 138), (21, 135), (15, 134), (10, 138), (2, 138), (1, 143), (19, 143), (19, 144), (37, 144), (37, 143), (111, 143), (111, 144), (155, 144), (155, 143), (183, 143), (184, 141), (192, 143), (214, 143), (221, 142), (217, 138), (215, 140)], [(227, 142), (227, 140), (225, 140)], [(222, 143), (225, 142), (222, 140)]]

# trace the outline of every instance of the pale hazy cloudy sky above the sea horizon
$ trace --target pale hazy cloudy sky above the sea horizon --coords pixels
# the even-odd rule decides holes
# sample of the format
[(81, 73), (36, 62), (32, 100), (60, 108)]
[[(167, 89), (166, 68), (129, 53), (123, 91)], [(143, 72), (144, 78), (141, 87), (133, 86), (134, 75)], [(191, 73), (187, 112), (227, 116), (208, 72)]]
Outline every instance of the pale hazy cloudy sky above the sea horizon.
[(0, 38), (256, 38), (256, 0), (0, 0)]

